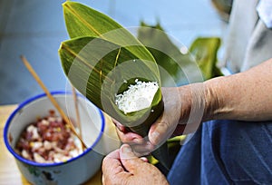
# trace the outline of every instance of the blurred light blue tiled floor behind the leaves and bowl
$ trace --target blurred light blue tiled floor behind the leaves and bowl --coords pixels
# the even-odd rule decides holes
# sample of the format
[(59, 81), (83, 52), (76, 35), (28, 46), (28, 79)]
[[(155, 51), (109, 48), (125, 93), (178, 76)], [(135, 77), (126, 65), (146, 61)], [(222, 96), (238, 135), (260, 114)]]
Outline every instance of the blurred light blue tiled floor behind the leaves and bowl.
[[(43, 93), (26, 70), (28, 59), (51, 91), (65, 90), (58, 48), (69, 39), (63, 20), (63, 0), (0, 0), (0, 104), (20, 103)], [(111, 16), (124, 27), (157, 24), (179, 43), (199, 36), (224, 38), (228, 30), (228, 5), (224, 0), (80, 0)], [(220, 6), (224, 3), (227, 6)], [(227, 7), (227, 9), (224, 9)], [(226, 14), (227, 13), (227, 14)], [(224, 43), (221, 47), (224, 46)], [(68, 84), (69, 85), (69, 84)]]

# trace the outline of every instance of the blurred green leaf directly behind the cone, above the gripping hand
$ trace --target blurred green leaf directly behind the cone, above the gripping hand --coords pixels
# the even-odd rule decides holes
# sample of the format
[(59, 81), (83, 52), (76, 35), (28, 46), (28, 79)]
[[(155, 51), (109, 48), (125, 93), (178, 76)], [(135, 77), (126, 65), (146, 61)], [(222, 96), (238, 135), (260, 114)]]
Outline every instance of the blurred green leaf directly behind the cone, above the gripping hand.
[(203, 81), (193, 56), (182, 54), (160, 24), (152, 26), (142, 22), (138, 30), (138, 39), (146, 45), (160, 66), (162, 86), (180, 86)]

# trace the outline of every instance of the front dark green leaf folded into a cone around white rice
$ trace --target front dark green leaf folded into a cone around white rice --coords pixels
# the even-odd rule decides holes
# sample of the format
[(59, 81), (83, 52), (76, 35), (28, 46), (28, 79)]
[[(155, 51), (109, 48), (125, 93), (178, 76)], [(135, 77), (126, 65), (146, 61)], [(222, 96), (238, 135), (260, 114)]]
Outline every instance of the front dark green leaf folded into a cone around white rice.
[[(130, 46), (131, 50), (132, 47), (140, 46)], [(125, 47), (90, 36), (63, 42), (59, 54), (63, 71), (74, 87), (117, 121), (134, 127), (145, 122), (151, 109), (155, 110), (153, 115), (157, 114), (156, 106), (162, 101), (160, 89), (155, 94), (151, 109), (127, 114), (116, 106), (114, 96), (127, 90), (128, 85), (136, 79), (158, 82), (160, 79), (149, 68), (152, 62), (139, 60)], [(160, 115), (159, 110), (157, 111)]]

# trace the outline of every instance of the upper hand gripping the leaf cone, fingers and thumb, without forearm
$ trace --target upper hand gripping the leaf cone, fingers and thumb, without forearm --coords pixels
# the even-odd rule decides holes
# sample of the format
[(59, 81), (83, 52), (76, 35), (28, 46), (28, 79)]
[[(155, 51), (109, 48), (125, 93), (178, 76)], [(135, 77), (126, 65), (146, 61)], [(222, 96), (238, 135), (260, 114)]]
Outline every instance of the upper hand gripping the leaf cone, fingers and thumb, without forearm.
[[(199, 98), (203, 97), (203, 90), (202, 83), (162, 88), (164, 112), (151, 125), (148, 138), (113, 121), (121, 141), (129, 143), (138, 155), (146, 155), (170, 137), (196, 131), (204, 112), (205, 98)], [(190, 116), (192, 113), (194, 116)]]

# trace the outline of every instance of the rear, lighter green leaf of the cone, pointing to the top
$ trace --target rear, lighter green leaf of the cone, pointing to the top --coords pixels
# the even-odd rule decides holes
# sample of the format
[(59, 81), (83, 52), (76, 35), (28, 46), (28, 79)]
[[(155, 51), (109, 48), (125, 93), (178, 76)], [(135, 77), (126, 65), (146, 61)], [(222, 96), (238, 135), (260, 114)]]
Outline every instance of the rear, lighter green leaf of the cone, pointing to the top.
[[(71, 1), (63, 3), (63, 13), (66, 28), (71, 38), (83, 36), (100, 37), (112, 44), (127, 47), (138, 59), (155, 63), (152, 54), (143, 47), (137, 38), (120, 24), (112, 20), (111, 17), (91, 7)], [(128, 47), (131, 45), (139, 45), (139, 47)], [(158, 68), (154, 67), (152, 63), (151, 69), (153, 73), (159, 75)]]

